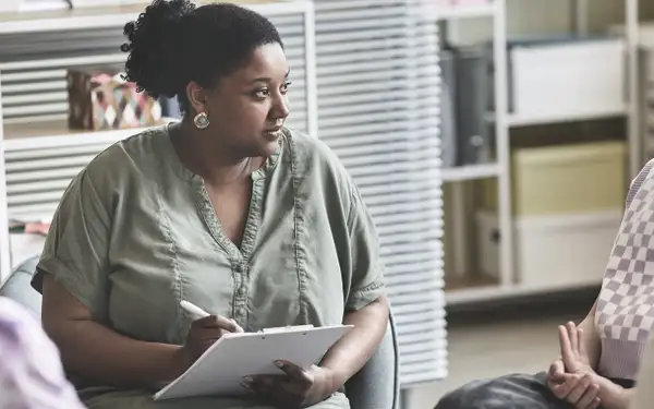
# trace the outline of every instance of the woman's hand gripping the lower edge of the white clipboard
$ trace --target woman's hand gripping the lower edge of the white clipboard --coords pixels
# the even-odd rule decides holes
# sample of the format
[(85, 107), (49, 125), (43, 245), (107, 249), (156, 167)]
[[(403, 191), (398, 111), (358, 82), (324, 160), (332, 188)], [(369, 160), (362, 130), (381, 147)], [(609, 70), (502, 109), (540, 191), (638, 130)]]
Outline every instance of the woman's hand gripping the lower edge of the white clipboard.
[(243, 386), (268, 397), (279, 408), (306, 408), (318, 404), (331, 394), (335, 374), (327, 368), (312, 365), (302, 369), (288, 361), (278, 361), (282, 375), (253, 375), (244, 380)]

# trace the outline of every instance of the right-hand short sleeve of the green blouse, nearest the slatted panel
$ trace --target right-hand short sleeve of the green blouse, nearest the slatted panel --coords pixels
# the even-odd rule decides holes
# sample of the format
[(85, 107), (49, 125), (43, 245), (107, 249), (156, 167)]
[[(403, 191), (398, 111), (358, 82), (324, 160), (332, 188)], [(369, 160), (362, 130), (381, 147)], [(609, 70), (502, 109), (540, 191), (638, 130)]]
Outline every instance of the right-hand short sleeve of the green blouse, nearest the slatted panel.
[(383, 296), (385, 286), (375, 224), (354, 185), (348, 214), (348, 233), (351, 279), (346, 310), (356, 311)]

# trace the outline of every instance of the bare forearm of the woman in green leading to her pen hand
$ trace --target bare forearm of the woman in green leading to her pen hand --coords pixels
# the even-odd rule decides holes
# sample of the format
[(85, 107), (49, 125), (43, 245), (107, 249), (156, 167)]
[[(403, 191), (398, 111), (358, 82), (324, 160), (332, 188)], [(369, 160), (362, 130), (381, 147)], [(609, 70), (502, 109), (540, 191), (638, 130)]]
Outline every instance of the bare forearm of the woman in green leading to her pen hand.
[(93, 384), (149, 386), (185, 370), (181, 347), (133, 340), (94, 322), (89, 309), (49, 274), (44, 274), (43, 296), (44, 328), (73, 376)]

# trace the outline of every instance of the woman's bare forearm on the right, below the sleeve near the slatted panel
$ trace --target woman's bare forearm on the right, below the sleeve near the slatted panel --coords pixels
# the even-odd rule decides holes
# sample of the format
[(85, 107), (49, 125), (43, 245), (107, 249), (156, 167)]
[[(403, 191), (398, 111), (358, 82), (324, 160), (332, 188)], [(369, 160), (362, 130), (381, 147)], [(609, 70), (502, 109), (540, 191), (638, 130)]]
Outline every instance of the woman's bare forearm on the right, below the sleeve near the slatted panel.
[(332, 390), (340, 388), (375, 353), (386, 332), (388, 315), (386, 297), (346, 314), (343, 324), (354, 328), (331, 347), (320, 363), (334, 375)]

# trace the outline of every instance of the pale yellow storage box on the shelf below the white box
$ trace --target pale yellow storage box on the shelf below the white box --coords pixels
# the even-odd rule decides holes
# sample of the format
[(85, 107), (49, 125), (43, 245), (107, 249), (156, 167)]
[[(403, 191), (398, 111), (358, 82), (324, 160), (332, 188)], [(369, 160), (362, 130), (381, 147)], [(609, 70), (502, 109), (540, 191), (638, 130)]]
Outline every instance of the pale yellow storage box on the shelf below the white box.
[[(621, 208), (628, 182), (623, 142), (525, 147), (511, 154), (516, 216)], [(483, 181), (482, 187), (482, 207), (496, 212), (496, 181)]]

